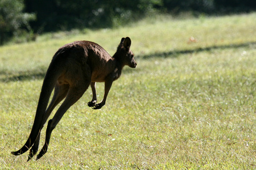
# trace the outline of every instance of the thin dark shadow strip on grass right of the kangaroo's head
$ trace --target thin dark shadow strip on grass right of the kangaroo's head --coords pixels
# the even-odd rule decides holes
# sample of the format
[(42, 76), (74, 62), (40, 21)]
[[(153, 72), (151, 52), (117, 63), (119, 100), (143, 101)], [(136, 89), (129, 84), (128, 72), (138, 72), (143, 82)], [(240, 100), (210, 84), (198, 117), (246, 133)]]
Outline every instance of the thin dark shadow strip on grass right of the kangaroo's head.
[(172, 50), (170, 52), (160, 52), (160, 53), (154, 53), (154, 54), (146, 54), (146, 55), (138, 55), (138, 58), (168, 58), (168, 57), (178, 57), (181, 54), (189, 54), (189, 53), (199, 53), (199, 52), (210, 52), (215, 49), (228, 49), (228, 48), (241, 48), (241, 47), (246, 47), (250, 45), (256, 45), (256, 41), (254, 42), (246, 42), (242, 44), (229, 44), (229, 45), (220, 45), (220, 46), (208, 46), (205, 48), (194, 48), (194, 49), (188, 49), (188, 50)]

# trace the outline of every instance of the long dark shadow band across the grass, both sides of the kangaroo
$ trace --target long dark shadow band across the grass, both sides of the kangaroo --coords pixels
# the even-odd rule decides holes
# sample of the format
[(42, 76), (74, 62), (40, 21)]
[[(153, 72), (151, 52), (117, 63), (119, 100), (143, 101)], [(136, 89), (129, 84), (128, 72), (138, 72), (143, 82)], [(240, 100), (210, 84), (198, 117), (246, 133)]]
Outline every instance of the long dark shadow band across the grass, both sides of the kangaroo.
[[(228, 49), (228, 48), (241, 48), (246, 46), (256, 45), (256, 42), (246, 42), (242, 44), (229, 44), (229, 45), (220, 45), (220, 46), (209, 46), (206, 48), (195, 48), (188, 50), (173, 50), (170, 52), (161, 52), (147, 55), (138, 55), (136, 58), (167, 58), (167, 57), (178, 57), (181, 54), (189, 53), (199, 53), (199, 52), (210, 52), (215, 49)], [(129, 72), (131, 70), (124, 69), (123, 73)], [(21, 71), (19, 73), (6, 73), (5, 71), (0, 72), (0, 82), (15, 82), (15, 81), (25, 81), (25, 80), (34, 80), (34, 79), (43, 79), (46, 74), (46, 70), (31, 70), (31, 71)]]

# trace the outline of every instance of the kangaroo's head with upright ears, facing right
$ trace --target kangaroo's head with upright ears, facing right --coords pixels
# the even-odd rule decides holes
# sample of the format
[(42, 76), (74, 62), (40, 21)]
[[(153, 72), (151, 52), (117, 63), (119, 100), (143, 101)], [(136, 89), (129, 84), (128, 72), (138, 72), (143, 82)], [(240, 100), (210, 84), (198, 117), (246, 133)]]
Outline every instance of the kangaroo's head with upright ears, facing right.
[(131, 68), (135, 68), (137, 63), (134, 60), (134, 54), (130, 50), (131, 39), (129, 37), (122, 38), (117, 48), (119, 59), (123, 62), (123, 65), (127, 65)]

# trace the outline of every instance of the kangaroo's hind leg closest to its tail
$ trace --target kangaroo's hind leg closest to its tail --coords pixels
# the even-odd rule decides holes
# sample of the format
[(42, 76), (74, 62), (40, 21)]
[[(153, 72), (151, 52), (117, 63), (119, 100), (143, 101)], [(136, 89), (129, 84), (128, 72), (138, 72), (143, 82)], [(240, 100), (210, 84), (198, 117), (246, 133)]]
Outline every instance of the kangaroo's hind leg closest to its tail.
[[(65, 98), (65, 96), (67, 96), (68, 89), (69, 89), (68, 84), (63, 84), (63, 85), (56, 84), (55, 90), (54, 90), (54, 95), (52, 97), (52, 101), (46, 110), (46, 117), (43, 120), (43, 126), (46, 123), (46, 121), (47, 121), (48, 117), (50, 116), (51, 112), (53, 111), (53, 109), (56, 107), (56, 105), (59, 104), (60, 101)], [(43, 127), (41, 127), (41, 129), (42, 128)], [(39, 142), (40, 142), (40, 133), (41, 132), (39, 132), (34, 145), (30, 149), (30, 154), (28, 155), (28, 160), (30, 160), (38, 151)]]

